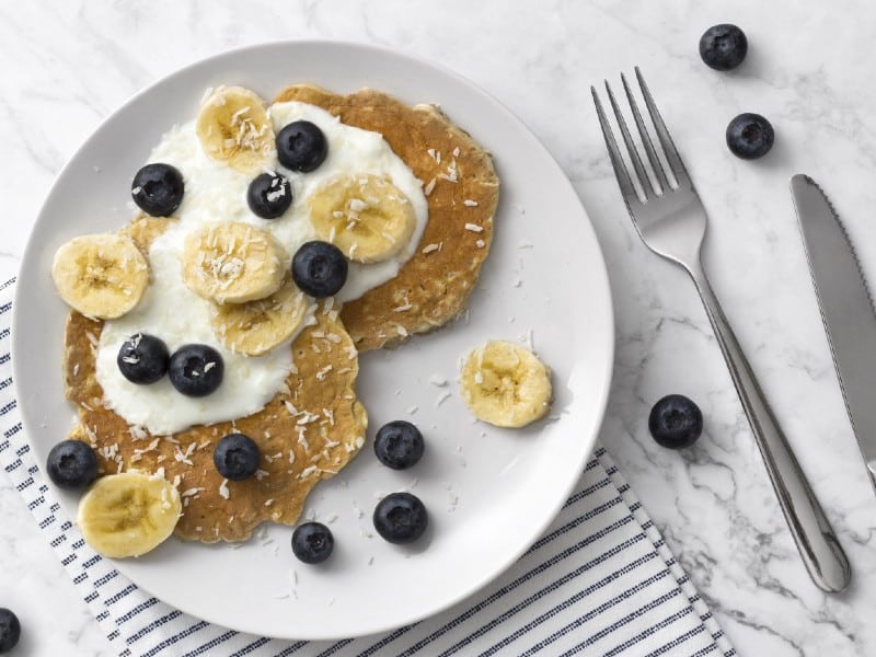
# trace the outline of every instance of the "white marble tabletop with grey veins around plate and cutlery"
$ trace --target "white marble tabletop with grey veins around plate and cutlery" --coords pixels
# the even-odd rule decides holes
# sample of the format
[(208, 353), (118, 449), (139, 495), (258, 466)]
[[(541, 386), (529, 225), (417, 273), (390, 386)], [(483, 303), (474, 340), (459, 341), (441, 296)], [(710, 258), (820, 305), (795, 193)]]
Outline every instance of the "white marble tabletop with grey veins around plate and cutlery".
[[(748, 60), (733, 73), (698, 56), (700, 34), (718, 22), (749, 36)], [(787, 189), (793, 173), (816, 177), (876, 277), (874, 31), (876, 10), (864, 0), (0, 2), (0, 278), (16, 272), (45, 193), (78, 145), (128, 96), (185, 64), (281, 38), (366, 42), (440, 61), (532, 128), (589, 211), (618, 332), (602, 440), (739, 653), (874, 655), (876, 497)], [(821, 593), (806, 576), (699, 298), (681, 270), (642, 245), (625, 215), (589, 85), (619, 83), (634, 65), (711, 211), (703, 257), (713, 286), (852, 561), (846, 593)], [(776, 146), (762, 161), (737, 160), (724, 146), (727, 122), (745, 111), (775, 126)], [(684, 453), (647, 434), (650, 405), (670, 392), (693, 397), (706, 418)], [(3, 475), (0, 520), (0, 606), (22, 619), (19, 654), (111, 654)]]

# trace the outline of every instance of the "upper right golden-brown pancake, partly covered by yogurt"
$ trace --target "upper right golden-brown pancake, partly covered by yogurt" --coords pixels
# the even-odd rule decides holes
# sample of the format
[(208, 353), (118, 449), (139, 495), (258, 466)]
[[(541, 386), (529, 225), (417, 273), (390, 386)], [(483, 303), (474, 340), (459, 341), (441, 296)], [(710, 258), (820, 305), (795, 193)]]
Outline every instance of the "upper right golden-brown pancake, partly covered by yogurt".
[(296, 84), (276, 100), (319, 105), (382, 134), (424, 183), (429, 221), (416, 255), (395, 278), (344, 304), (341, 318), (357, 348), (394, 346), (464, 310), (493, 239), (499, 181), (489, 153), (435, 106), (404, 105), (372, 89), (338, 95)]

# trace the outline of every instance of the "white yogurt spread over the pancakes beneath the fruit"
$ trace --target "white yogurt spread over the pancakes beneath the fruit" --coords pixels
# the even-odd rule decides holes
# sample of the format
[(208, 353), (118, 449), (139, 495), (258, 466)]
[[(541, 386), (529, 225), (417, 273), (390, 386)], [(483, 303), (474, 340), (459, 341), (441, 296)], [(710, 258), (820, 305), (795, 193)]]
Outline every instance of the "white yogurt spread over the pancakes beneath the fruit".
[[(178, 218), (159, 237), (149, 252), (151, 283), (142, 300), (125, 316), (107, 321), (96, 354), (97, 381), (108, 407), (131, 425), (157, 435), (184, 430), (193, 425), (214, 424), (257, 412), (273, 399), (295, 367), (290, 341), (258, 357), (242, 356), (224, 347), (210, 325), (211, 303), (192, 292), (183, 283), (182, 261), (185, 237), (217, 222), (241, 221), (270, 232), (286, 249), (284, 266), (291, 264), (298, 247), (318, 239), (308, 216), (307, 199), (324, 180), (343, 173), (387, 175), (411, 200), (417, 222), (407, 245), (393, 258), (372, 265), (349, 264), (347, 283), (336, 301), (349, 301), (393, 278), (415, 253), (428, 219), (423, 184), (392, 152), (378, 132), (346, 126), (320, 107), (304, 103), (277, 103), (269, 110), (275, 131), (292, 120), (316, 124), (328, 141), (328, 157), (311, 173), (290, 172), (274, 159), (266, 170), (283, 173), (292, 187), (292, 206), (278, 219), (266, 220), (246, 205), (251, 177), (207, 157), (189, 122), (171, 129), (152, 151), (149, 162), (164, 162), (178, 169), (185, 194)], [(313, 321), (315, 303), (306, 318)], [(116, 365), (122, 344), (136, 333), (149, 333), (173, 353), (188, 343), (216, 348), (224, 361), (222, 384), (206, 397), (178, 393), (164, 377), (150, 385), (131, 383)]]

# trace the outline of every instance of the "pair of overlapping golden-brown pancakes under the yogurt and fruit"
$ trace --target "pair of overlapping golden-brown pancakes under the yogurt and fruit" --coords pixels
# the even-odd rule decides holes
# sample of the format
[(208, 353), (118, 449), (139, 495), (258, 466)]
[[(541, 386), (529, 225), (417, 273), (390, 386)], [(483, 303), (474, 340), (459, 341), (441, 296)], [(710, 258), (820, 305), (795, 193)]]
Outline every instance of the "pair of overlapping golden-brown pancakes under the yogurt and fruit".
[[(183, 496), (175, 533), (186, 540), (242, 541), (265, 520), (295, 523), (313, 486), (365, 442), (357, 353), (395, 346), (457, 316), (492, 242), (499, 181), (489, 153), (436, 107), (404, 105), (371, 89), (337, 95), (310, 84), (289, 87), (276, 101), (318, 105), (344, 124), (380, 132), (423, 181), (429, 219), (395, 278), (341, 309), (321, 304), (316, 323), (291, 345), (297, 371), (264, 408), (233, 422), (154, 437), (129, 426), (104, 406), (96, 380), (94, 344), (103, 322), (70, 313), (64, 371), (79, 413), (71, 437), (94, 447), (103, 473), (163, 469)], [(162, 221), (140, 218), (124, 231), (148, 254)], [(251, 437), (262, 452), (260, 471), (241, 482), (224, 482), (212, 464), (212, 448), (232, 431)]]

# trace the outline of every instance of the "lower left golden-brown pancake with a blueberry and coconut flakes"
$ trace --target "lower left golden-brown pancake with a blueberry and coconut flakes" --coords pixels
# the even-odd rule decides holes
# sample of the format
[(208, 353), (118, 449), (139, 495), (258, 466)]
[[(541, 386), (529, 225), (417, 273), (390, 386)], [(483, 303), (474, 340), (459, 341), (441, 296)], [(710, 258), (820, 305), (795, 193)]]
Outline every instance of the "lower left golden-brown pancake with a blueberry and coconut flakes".
[[(141, 217), (123, 232), (146, 251), (172, 220)], [(322, 304), (315, 319), (291, 346), (298, 372), (262, 411), (159, 437), (128, 426), (104, 407), (93, 349), (103, 322), (73, 311), (67, 321), (64, 368), (67, 397), (80, 419), (71, 438), (94, 447), (104, 473), (163, 468), (183, 497), (175, 530), (181, 539), (243, 541), (265, 520), (293, 525), (313, 486), (359, 451), (367, 426), (354, 389), (358, 360), (353, 341), (330, 306)], [(251, 437), (262, 452), (260, 472), (242, 482), (224, 482), (212, 463), (214, 447), (232, 431)]]

